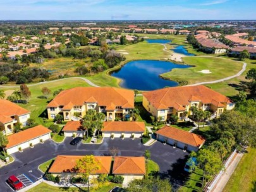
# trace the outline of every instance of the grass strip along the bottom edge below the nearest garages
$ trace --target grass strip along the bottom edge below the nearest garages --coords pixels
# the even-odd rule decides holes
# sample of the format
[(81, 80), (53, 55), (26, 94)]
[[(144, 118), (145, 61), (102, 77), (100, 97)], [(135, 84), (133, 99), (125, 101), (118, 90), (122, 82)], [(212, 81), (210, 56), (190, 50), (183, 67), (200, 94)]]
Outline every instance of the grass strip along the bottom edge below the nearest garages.
[[(101, 191), (109, 191), (115, 186), (121, 186), (120, 184), (116, 183), (106, 183), (102, 188), (100, 189), (94, 189), (95, 192), (101, 192)], [(83, 191), (87, 191), (87, 188), (82, 188)], [(78, 188), (59, 188), (54, 187), (46, 183), (40, 183), (39, 185), (35, 186), (32, 189), (29, 189), (28, 192), (55, 192), (55, 191), (66, 191), (66, 192), (79, 192), (81, 191)], [(90, 190), (91, 191), (91, 190)]]

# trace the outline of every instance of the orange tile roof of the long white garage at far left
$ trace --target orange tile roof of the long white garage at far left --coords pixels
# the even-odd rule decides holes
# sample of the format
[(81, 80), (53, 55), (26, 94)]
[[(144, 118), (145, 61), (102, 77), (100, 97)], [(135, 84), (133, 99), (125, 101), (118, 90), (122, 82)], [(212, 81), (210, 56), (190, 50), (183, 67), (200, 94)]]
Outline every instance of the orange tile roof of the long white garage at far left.
[(34, 128), (25, 129), (24, 131), (20, 131), (13, 135), (7, 136), (9, 143), (7, 144), (6, 148), (11, 148), (16, 145), (20, 145), (26, 141), (32, 140), (42, 135), (46, 135), (47, 133), (51, 133), (50, 129), (42, 125), (35, 126)]

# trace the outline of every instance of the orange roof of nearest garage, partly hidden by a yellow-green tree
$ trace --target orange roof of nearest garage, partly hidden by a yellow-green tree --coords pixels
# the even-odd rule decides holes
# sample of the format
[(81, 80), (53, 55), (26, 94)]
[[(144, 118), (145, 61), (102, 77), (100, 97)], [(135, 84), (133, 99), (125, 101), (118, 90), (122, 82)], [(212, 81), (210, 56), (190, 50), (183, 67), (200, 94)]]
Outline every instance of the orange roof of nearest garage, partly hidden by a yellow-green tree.
[[(76, 161), (82, 159), (84, 156), (75, 155), (58, 155), (54, 160), (49, 172), (77, 172), (75, 170)], [(100, 163), (99, 171), (95, 171), (93, 174), (109, 174), (111, 169), (112, 157), (109, 156), (94, 156), (95, 160)]]

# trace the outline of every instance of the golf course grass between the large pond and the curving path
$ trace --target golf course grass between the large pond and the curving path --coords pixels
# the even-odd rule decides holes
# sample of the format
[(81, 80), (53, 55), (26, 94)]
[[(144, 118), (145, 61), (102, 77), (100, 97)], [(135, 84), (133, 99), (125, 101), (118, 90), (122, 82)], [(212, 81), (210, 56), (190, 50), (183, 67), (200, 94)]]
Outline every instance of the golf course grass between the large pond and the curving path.
[[(175, 81), (185, 80), (188, 81), (188, 84), (193, 84), (219, 80), (235, 75), (243, 66), (238, 61), (222, 59), (221, 57), (183, 57), (183, 61), (195, 67), (173, 69), (168, 73), (161, 74), (161, 76)], [(204, 74), (199, 72), (204, 69), (209, 69), (211, 73)]]

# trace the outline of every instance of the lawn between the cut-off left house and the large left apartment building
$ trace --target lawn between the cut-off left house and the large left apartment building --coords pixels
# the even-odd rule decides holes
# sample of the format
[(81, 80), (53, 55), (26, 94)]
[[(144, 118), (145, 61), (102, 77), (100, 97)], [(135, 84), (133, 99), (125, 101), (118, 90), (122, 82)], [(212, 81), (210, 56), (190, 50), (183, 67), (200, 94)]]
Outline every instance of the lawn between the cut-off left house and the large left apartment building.
[[(42, 88), (47, 87), (53, 93), (55, 90), (59, 88), (68, 89), (73, 87), (88, 87), (88, 84), (80, 79), (63, 79), (60, 81), (54, 81), (51, 83), (42, 83), (40, 85), (35, 85), (29, 87), (31, 92), (31, 98), (28, 104), (19, 104), (21, 107), (28, 109), (31, 112), (30, 117), (35, 119), (35, 123), (42, 124), (46, 127), (49, 127), (53, 122), (51, 120), (44, 121), (42, 117), (47, 118), (47, 111), (46, 105), (52, 100), (54, 97), (51, 95), (49, 99), (40, 99), (39, 97), (42, 96)], [(3, 90), (13, 90), (14, 88), (3, 88)], [(20, 88), (16, 88), (19, 90)]]

